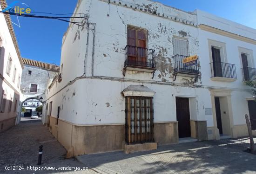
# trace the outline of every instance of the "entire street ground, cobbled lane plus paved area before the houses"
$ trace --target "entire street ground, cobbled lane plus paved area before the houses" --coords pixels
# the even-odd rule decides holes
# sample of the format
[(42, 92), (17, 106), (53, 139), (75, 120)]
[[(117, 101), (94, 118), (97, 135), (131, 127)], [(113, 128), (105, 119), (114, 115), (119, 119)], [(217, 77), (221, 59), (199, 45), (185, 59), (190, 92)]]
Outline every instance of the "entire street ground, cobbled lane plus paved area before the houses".
[[(189, 142), (160, 146), (157, 150), (124, 154), (111, 152), (65, 159), (65, 149), (40, 120), (22, 121), (0, 134), (0, 173), (86, 173), (94, 174), (256, 174), (256, 155), (243, 152), (248, 138)], [(256, 138), (255, 138), (256, 142)], [(37, 165), (38, 147), (44, 146), (43, 164)], [(24, 170), (6, 171), (6, 166), (24, 166)], [(31, 167), (55, 167), (34, 171)], [(89, 167), (93, 170), (59, 170), (57, 167)], [(96, 172), (95, 172), (96, 171)]]

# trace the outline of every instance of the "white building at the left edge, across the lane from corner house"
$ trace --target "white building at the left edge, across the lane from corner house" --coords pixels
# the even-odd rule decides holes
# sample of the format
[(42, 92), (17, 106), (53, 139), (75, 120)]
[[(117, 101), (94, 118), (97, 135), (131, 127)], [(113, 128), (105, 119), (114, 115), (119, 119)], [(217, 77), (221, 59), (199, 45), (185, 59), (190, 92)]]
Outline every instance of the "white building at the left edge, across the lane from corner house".
[[(5, 0), (0, 0), (0, 11), (6, 6)], [(0, 13), (0, 132), (16, 123), (22, 69), (11, 18), (8, 14)]]

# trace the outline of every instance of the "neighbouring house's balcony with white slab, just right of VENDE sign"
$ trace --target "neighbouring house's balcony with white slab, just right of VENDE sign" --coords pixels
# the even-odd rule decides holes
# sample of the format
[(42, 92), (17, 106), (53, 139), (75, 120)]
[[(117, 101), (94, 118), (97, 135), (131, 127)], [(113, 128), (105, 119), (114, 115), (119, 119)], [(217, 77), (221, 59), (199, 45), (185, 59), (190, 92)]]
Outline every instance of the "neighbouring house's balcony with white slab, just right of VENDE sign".
[(222, 82), (234, 82), (236, 77), (236, 65), (224, 62), (212, 62), (211, 67), (211, 80)]

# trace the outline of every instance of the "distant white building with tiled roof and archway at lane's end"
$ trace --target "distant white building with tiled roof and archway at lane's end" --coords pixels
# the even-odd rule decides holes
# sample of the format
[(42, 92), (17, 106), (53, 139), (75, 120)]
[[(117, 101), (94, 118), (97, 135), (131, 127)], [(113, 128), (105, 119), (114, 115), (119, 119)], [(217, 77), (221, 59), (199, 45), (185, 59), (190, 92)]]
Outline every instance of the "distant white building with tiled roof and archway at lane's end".
[(27, 58), (22, 58), (22, 62), (24, 69), (20, 83), (23, 94), (21, 107), (29, 112), (24, 116), (31, 116), (37, 114), (36, 108), (42, 105), (41, 101), (46, 94), (48, 83), (59, 73), (60, 67)]

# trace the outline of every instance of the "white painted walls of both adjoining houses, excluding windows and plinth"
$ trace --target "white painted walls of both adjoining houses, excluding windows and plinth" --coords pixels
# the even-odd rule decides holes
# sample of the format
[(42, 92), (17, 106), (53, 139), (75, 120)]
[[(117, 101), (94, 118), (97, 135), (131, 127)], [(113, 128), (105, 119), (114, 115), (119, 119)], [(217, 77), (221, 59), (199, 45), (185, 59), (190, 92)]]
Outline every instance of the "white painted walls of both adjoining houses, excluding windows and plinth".
[[(206, 32), (198, 26), (212, 24), (212, 27), (225, 30), (227, 28), (223, 28), (221, 24), (232, 24), (229, 28), (240, 26), (252, 33), (256, 30), (226, 19), (220, 19), (221, 24), (211, 22), (208, 18), (212, 16), (201, 11), (187, 13), (149, 0), (110, 0), (110, 3), (108, 0), (80, 0), (74, 13), (88, 13), (90, 29), (86, 25), (78, 27), (70, 24), (64, 34), (61, 50), (62, 81), (58, 83), (55, 79), (49, 84), (51, 87), (47, 91), (42, 114), (44, 123), (47, 122), (47, 115), (57, 117), (60, 107), (59, 119), (74, 125), (124, 125), (125, 97), (121, 91), (129, 85), (144, 85), (155, 92), (154, 123), (177, 121), (175, 98), (187, 97), (190, 119), (207, 122), (208, 139), (219, 138), (217, 129), (214, 128), (216, 121), (211, 94), (215, 92), (213, 90), (219, 91), (214, 93), (217, 95), (227, 91), (229, 98), (226, 100), (231, 101), (225, 105), (226, 113), (232, 118), (230, 135), (240, 135), (237, 132), (231, 134), (231, 130), (236, 129), (236, 125), (245, 124), (244, 115), (248, 114), (245, 98), (251, 97), (251, 94), (242, 82), (238, 47), (249, 49), (256, 55), (256, 46)], [(212, 18), (214, 21), (219, 19), (216, 16)], [(156, 53), (154, 76), (141, 71), (126, 71), (123, 76), (128, 26), (148, 30), (147, 48), (154, 49)], [(229, 29), (228, 32), (256, 39), (253, 35), (248, 35), (249, 32), (241, 34), (238, 29)], [(198, 79), (173, 75), (173, 38), (188, 40), (189, 55), (198, 55)], [(236, 64), (237, 80), (211, 80), (208, 39), (226, 44), (227, 61)], [(243, 134), (244, 132), (241, 133)]]

